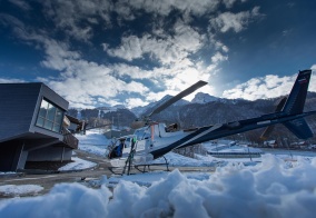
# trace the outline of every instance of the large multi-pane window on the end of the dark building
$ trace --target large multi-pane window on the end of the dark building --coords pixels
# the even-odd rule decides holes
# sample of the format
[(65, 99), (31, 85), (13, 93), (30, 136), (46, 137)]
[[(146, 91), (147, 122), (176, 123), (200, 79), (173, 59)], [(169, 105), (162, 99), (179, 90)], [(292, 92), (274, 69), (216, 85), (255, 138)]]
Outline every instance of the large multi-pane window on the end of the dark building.
[(55, 105), (42, 99), (36, 126), (60, 132), (63, 111)]

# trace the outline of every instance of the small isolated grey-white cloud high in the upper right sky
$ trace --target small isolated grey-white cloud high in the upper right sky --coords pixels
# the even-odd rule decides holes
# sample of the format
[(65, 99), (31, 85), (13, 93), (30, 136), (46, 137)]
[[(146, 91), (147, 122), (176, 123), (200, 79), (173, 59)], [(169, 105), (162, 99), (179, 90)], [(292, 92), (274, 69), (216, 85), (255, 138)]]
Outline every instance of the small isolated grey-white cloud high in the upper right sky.
[(220, 13), (218, 17), (210, 19), (210, 23), (221, 32), (227, 32), (229, 30), (240, 32), (253, 19), (259, 16), (259, 7), (255, 7), (251, 11)]

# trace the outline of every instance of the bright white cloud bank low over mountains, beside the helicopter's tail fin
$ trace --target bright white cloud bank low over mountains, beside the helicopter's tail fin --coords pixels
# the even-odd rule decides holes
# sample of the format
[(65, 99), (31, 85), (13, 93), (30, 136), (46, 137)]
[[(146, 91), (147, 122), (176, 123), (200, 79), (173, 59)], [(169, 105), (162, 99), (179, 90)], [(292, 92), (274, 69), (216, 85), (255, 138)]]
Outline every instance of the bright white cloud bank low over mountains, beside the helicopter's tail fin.
[[(292, 77), (279, 77), (276, 75), (268, 75), (265, 77), (253, 78), (233, 89), (223, 92), (224, 98), (247, 100), (276, 98), (288, 95), (297, 75)], [(310, 79), (308, 91), (316, 91), (316, 80)]]

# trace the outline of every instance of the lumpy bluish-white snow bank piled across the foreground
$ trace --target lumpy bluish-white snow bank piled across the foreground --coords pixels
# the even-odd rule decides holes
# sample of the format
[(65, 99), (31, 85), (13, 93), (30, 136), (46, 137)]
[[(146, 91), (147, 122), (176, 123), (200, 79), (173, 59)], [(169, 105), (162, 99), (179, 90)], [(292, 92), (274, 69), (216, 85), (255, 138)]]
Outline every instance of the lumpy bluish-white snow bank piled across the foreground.
[[(85, 136), (79, 148), (86, 150), (88, 145), (81, 141), (85, 143)], [(181, 174), (176, 169), (103, 176), (93, 181), (93, 188), (58, 184), (45, 196), (1, 200), (0, 217), (315, 217), (313, 152), (266, 153), (249, 166), (245, 165), (249, 158), (191, 159), (172, 152), (166, 158), (174, 166), (226, 165), (214, 172)]]

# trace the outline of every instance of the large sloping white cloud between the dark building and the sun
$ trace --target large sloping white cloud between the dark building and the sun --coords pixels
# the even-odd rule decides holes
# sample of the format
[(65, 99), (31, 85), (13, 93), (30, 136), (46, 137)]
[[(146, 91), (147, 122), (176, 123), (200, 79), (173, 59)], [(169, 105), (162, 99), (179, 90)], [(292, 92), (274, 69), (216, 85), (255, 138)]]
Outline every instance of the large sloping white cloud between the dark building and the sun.
[[(77, 51), (69, 50), (66, 43), (55, 40), (42, 41), (46, 50), (46, 60), (42, 66), (59, 70), (59, 77), (41, 78), (39, 81), (46, 82), (56, 92), (63, 96), (71, 107), (88, 108), (98, 103), (98, 97), (117, 105), (113, 101), (119, 93), (146, 95), (148, 88), (137, 81), (126, 82), (117, 77), (122, 70), (129, 71), (129, 66), (105, 66), (81, 59)], [(138, 68), (130, 67), (134, 72)], [(141, 70), (139, 70), (141, 72)], [(140, 73), (139, 72), (139, 73)], [(122, 76), (122, 75), (120, 75)]]

